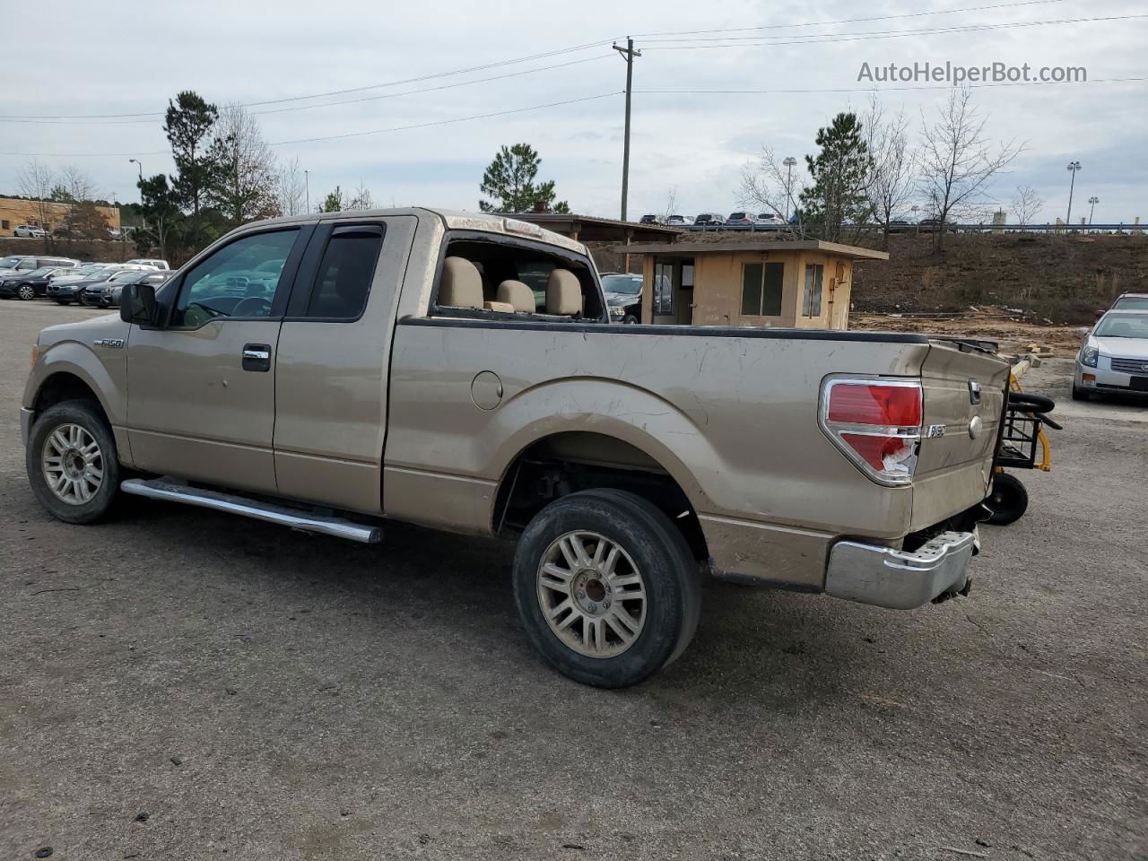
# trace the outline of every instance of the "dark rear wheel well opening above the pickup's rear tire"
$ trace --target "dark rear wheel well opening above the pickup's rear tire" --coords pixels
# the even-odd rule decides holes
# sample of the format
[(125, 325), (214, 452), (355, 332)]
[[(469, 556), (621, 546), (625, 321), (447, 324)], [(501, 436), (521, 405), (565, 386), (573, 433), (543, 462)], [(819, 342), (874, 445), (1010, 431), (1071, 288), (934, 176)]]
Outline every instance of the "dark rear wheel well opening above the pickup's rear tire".
[(552, 434), (519, 452), (498, 486), (495, 533), (521, 532), (554, 499), (606, 487), (649, 499), (682, 530), (698, 559), (708, 557), (689, 497), (661, 464), (628, 442), (581, 430)]

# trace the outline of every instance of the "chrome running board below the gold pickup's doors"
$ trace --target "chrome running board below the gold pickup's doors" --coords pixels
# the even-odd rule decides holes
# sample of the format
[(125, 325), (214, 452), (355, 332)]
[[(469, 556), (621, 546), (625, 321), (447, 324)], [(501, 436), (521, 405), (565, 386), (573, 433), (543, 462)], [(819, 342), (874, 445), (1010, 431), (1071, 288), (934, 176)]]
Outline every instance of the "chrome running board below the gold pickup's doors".
[(249, 499), (246, 496), (188, 487), (170, 479), (127, 479), (127, 481), (121, 482), (119, 489), (133, 496), (146, 496), (149, 499), (181, 502), (197, 505), (201, 509), (226, 511), (254, 520), (289, 526), (292, 529), (333, 535), (336, 538), (349, 538), (364, 544), (378, 544), (382, 541), (382, 529), (378, 526), (364, 526), (344, 518), (312, 514), (286, 505)]

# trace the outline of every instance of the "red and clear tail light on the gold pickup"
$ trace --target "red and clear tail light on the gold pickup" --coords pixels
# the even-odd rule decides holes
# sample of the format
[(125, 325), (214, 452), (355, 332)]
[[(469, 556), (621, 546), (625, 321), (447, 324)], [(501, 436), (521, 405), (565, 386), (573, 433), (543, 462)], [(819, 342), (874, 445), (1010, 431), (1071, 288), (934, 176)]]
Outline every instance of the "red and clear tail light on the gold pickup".
[(821, 428), (881, 484), (909, 484), (921, 443), (921, 381), (830, 378), (821, 390)]

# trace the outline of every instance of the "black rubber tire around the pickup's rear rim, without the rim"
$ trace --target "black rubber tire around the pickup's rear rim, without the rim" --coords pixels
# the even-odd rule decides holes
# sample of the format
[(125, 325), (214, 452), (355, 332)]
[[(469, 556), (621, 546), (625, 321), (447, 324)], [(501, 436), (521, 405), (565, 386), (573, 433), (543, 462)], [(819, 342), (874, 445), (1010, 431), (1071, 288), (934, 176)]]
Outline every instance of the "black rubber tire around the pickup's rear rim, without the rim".
[[(621, 548), (642, 574), (645, 621), (620, 654), (581, 654), (559, 638), (543, 614), (538, 568), (567, 533), (596, 533)], [(637, 684), (675, 660), (701, 615), (698, 564), (681, 530), (652, 503), (625, 490), (571, 494), (540, 511), (514, 552), (514, 602), (527, 637), (563, 675), (597, 688)]]

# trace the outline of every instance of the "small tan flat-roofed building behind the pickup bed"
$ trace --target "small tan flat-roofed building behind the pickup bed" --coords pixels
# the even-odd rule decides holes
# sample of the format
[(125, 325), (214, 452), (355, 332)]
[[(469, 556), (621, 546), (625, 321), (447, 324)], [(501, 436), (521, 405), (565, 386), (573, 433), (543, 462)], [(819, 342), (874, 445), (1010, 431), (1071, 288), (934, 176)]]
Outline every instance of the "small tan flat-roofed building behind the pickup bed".
[(848, 328), (853, 261), (886, 251), (821, 240), (634, 245), (644, 255), (642, 321)]

